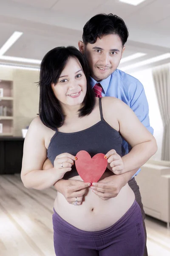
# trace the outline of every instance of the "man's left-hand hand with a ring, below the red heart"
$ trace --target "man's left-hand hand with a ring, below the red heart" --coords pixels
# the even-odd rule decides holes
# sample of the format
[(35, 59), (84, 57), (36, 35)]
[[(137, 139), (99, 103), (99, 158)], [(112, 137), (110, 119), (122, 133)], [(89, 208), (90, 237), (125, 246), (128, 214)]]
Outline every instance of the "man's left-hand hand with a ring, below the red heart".
[(82, 204), (83, 195), (91, 183), (84, 183), (80, 180), (58, 180), (54, 187), (59, 193), (64, 195), (69, 204), (74, 204), (77, 198), (77, 205)]

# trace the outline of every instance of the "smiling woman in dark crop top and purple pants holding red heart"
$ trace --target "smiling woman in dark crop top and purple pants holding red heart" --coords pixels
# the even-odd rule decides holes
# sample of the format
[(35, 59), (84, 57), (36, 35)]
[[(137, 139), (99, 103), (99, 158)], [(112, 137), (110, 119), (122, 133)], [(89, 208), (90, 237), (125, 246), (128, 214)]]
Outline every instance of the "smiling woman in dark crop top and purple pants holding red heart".
[[(82, 179), (75, 161), (81, 150), (91, 157), (103, 153), (108, 164), (101, 179), (119, 175), (155, 154), (156, 140), (125, 103), (95, 98), (88, 76), (85, 59), (74, 47), (54, 48), (43, 58), (39, 116), (26, 135), (21, 178), (34, 189), (70, 182), (71, 201), (58, 191), (54, 202), (57, 256), (143, 256), (142, 214), (128, 183), (115, 198), (102, 200), (91, 183), (76, 185)], [(122, 137), (132, 147), (123, 157)], [(51, 166), (42, 170), (47, 157)]]

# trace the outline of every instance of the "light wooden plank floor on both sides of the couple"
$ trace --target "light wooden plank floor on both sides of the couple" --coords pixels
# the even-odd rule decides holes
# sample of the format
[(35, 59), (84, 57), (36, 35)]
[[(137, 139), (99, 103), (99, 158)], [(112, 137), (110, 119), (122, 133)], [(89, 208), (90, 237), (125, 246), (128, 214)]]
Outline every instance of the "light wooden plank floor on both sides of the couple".
[[(26, 189), (20, 175), (0, 176), (0, 256), (55, 256), (52, 214), (56, 191)], [(149, 256), (170, 256), (170, 230), (146, 218)]]

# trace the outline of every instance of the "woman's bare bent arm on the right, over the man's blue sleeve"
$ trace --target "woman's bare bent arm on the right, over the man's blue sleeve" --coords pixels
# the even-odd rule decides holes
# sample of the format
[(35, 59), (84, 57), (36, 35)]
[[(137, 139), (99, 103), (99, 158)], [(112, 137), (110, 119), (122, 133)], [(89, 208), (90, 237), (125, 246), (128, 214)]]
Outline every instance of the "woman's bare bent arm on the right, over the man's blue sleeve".
[[(131, 151), (122, 157), (124, 172), (140, 168), (157, 151), (156, 140), (152, 134), (139, 121), (135, 113), (121, 100), (106, 97), (108, 112), (106, 118), (112, 127), (115, 127), (115, 117), (118, 120), (116, 129), (122, 137), (131, 145)], [(104, 99), (105, 100), (105, 99)], [(106, 105), (106, 101), (104, 102)], [(114, 110), (114, 111), (113, 111)], [(112, 117), (111, 117), (112, 111)], [(114, 115), (114, 118), (113, 118)], [(113, 120), (113, 121), (112, 121)]]

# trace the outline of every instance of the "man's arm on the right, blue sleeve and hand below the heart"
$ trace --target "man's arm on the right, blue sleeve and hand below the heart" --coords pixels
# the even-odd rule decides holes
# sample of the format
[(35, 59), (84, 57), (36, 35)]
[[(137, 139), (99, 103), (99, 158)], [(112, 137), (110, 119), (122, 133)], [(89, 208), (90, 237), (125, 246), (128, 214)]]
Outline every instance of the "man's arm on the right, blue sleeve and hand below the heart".
[[(153, 134), (153, 128), (150, 126), (149, 120), (149, 106), (144, 92), (144, 87), (140, 81), (137, 80), (136, 84), (131, 85), (129, 95), (130, 108), (147, 130)], [(123, 140), (122, 146), (125, 149), (124, 154), (127, 154), (131, 150), (130, 145), (128, 145), (125, 140)], [(113, 175), (100, 180), (99, 183), (96, 183), (95, 186), (93, 186), (94, 193), (99, 195), (103, 200), (116, 197), (122, 187), (139, 172), (140, 169), (135, 169), (121, 175)], [(109, 190), (110, 193), (108, 193)]]

